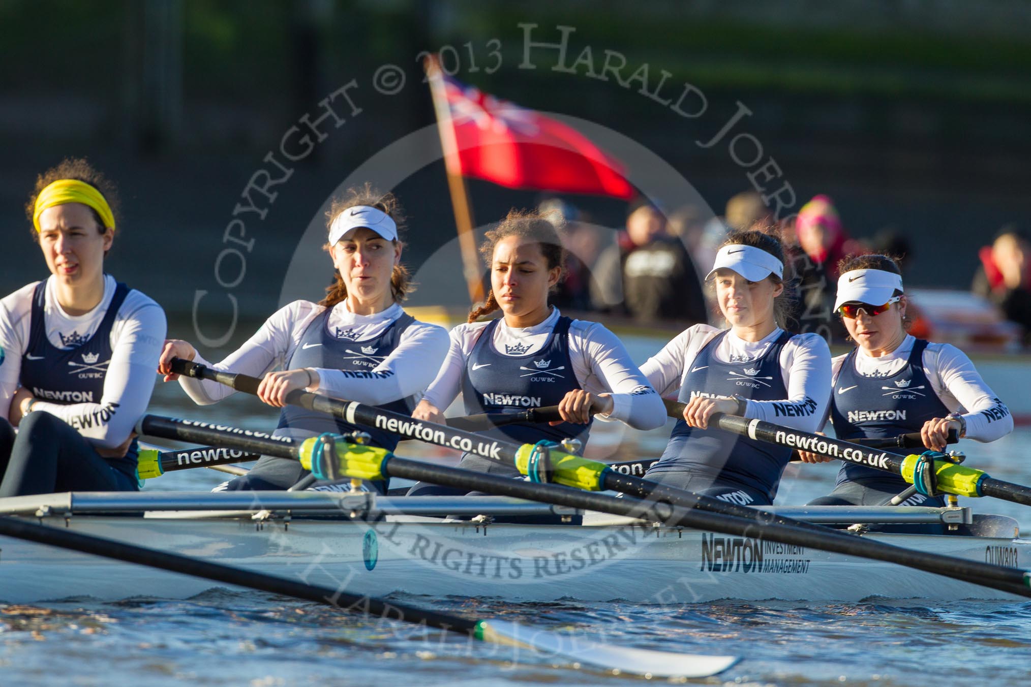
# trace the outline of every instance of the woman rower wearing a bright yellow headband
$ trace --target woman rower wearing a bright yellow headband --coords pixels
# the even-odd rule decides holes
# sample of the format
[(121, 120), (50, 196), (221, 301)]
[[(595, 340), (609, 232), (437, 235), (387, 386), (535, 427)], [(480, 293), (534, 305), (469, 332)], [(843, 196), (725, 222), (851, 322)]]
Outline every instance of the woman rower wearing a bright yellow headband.
[(104, 274), (114, 185), (65, 160), (36, 179), (26, 212), (51, 276), (0, 300), (0, 496), (137, 489), (133, 427), (166, 322)]

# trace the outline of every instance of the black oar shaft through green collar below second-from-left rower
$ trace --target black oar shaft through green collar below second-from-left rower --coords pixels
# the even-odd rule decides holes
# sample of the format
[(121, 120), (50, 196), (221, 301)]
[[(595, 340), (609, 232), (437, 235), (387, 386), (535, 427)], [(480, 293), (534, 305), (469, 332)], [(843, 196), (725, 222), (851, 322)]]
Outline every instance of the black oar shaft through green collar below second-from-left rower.
[[(174, 424), (179, 421), (166, 420), (164, 423), (152, 422), (148, 426), (157, 428), (159, 433), (174, 434), (173, 431), (169, 431), (168, 424)], [(270, 448), (278, 448), (280, 450), (285, 448), (282, 444), (271, 438), (260, 439), (256, 436), (261, 433), (250, 433), (252, 436), (245, 437), (245, 433), (239, 430), (233, 432), (226, 428), (219, 428), (214, 425), (203, 426), (204, 424), (202, 422), (191, 423), (190, 432), (192, 435), (203, 436), (203, 438), (196, 441), (224, 443), (227, 445), (232, 445), (238, 441), (247, 441), (248, 443), (267, 442)], [(164, 436), (164, 434), (159, 434), (158, 436)], [(292, 453), (290, 456), (285, 457), (297, 456), (298, 448), (296, 446), (291, 446), (287, 450)], [(716, 514), (692, 508), (670, 506), (664, 502), (642, 501), (632, 496), (620, 499), (606, 493), (581, 491), (558, 484), (535, 484), (523, 480), (435, 466), (397, 456), (387, 460), (385, 472), (391, 477), (433, 482), (444, 486), (455, 486), (463, 489), (485, 491), (497, 495), (538, 501), (612, 515), (642, 518), (646, 521), (663, 522), (667, 526), (672, 527), (683, 526), (704, 531), (718, 531), (738, 537), (780, 542), (783, 544), (807, 546), (844, 555), (872, 558), (874, 560), (908, 565), (964, 582), (973, 582), (974, 584), (992, 587), (1011, 594), (1031, 597), (1031, 589), (1025, 586), (1025, 574), (1021, 570), (904, 549), (863, 539), (849, 533), (816, 527), (814, 525), (804, 527), (790, 524), (791, 521), (787, 521), (787, 519), (778, 521), (771, 514), (758, 514), (751, 509), (743, 509), (746, 514), (745, 517)], [(626, 481), (629, 485), (643, 483), (642, 480), (624, 475), (620, 475), (619, 479)], [(722, 504), (723, 502), (718, 503)], [(759, 520), (756, 519), (757, 516), (760, 516)], [(789, 523), (786, 523), (786, 521)]]

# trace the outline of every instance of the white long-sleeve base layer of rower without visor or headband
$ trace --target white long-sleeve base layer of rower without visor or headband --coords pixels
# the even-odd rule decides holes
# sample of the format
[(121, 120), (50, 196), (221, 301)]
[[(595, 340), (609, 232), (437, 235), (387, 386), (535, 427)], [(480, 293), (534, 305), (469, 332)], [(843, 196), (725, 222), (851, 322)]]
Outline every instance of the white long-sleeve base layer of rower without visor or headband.
[[(494, 347), (504, 351), (505, 344), (530, 346), (520, 355), (532, 355), (547, 343), (561, 313), (558, 308), (544, 321), (533, 327), (508, 327), (504, 320), (494, 330)], [(458, 397), (462, 388), (462, 374), (472, 347), (488, 322), (459, 324), (451, 331), (451, 348), (440, 373), (424, 400), (444, 410)], [(501, 353), (504, 354), (504, 353)], [(622, 420), (635, 430), (654, 430), (666, 421), (662, 399), (644, 379), (623, 342), (598, 322), (580, 319), (569, 325), (569, 358), (580, 387), (590, 393), (611, 393), (612, 412), (598, 415), (602, 419)]]

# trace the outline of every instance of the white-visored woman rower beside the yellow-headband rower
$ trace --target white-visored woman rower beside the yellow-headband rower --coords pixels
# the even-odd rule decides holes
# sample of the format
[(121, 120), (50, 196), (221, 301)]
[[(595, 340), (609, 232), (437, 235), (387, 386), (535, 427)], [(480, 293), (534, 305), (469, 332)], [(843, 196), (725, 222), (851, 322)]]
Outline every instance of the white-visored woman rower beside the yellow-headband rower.
[[(394, 450), (397, 435), (288, 406), (286, 399), (294, 389), (305, 388), (408, 414), (433, 381), (447, 354), (447, 331), (420, 322), (401, 309), (409, 282), (401, 265), (400, 229), (403, 216), (393, 195), (368, 185), (350, 190), (329, 212), (325, 249), (336, 277), (326, 298), (281, 308), (240, 348), (212, 366), (265, 375), (258, 396), (282, 408), (275, 434), (306, 438), (361, 430), (372, 435), (373, 445)], [(217, 382), (172, 374), (172, 357), (203, 358), (186, 341), (169, 340), (158, 367), (165, 381), (178, 378), (196, 403), (207, 405), (234, 393)], [(270, 372), (276, 367), (281, 371)], [(296, 460), (264, 456), (245, 476), (217, 490), (287, 489), (305, 475)], [(386, 489), (383, 483), (373, 486)]]

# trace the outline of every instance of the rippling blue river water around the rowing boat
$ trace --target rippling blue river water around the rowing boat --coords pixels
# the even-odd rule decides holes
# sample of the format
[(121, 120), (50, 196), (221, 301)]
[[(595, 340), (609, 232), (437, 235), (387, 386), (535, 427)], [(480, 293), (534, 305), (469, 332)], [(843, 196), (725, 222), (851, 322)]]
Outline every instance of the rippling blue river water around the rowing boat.
[[(633, 343), (635, 357), (654, 345)], [(215, 408), (217, 416), (184, 399), (176, 384), (159, 383), (154, 412), (252, 428), (275, 423), (275, 413), (254, 399), (227, 400)], [(644, 434), (624, 432), (616, 423), (596, 426), (592, 456), (614, 460), (658, 455), (671, 424)], [(1029, 446), (1031, 430), (1023, 428), (991, 445), (961, 444), (967, 465), (1018, 483), (1031, 482)], [(402, 443), (397, 452), (441, 455), (411, 442)], [(826, 493), (836, 470), (834, 463), (790, 466), (777, 503), (803, 504)], [(209, 489), (225, 477), (197, 469), (169, 473), (146, 488)], [(961, 503), (1009, 515), (1022, 531), (1031, 530), (1031, 511), (1024, 507), (987, 500)], [(1025, 685), (1031, 672), (1031, 603), (723, 600), (670, 608), (619, 599), (514, 604), (501, 595), (398, 600), (576, 631), (619, 645), (743, 657), (723, 675), (703, 681), (707, 684)], [(187, 600), (0, 604), (0, 684), (5, 686), (617, 685), (635, 680), (553, 665), (543, 656), (469, 644), (457, 634), (213, 585)]]

